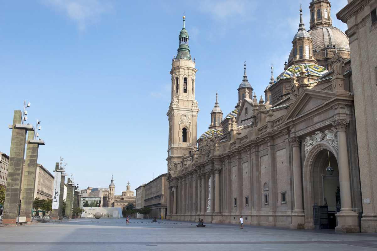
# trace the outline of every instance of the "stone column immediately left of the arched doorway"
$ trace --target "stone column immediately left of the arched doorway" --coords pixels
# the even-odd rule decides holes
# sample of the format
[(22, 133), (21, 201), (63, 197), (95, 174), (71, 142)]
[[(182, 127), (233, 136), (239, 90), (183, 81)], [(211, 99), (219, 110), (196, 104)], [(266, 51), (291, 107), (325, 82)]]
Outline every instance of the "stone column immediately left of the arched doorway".
[(294, 216), (292, 216), (292, 224), (290, 225), (290, 228), (302, 229), (303, 224), (305, 224), (305, 214), (302, 205), (302, 170), (299, 138), (292, 137), (291, 145), (293, 159)]

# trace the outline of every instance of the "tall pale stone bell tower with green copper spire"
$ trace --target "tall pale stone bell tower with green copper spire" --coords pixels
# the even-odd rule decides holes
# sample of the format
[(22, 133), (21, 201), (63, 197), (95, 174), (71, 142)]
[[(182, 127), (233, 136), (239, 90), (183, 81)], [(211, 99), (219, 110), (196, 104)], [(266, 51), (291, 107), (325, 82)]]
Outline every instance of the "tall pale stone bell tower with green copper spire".
[(168, 172), (172, 176), (178, 174), (183, 156), (192, 154), (196, 149), (198, 102), (195, 100), (195, 59), (190, 55), (189, 33), (183, 27), (179, 33), (179, 47), (176, 57), (173, 57), (172, 70), (172, 101), (167, 116), (169, 118)]

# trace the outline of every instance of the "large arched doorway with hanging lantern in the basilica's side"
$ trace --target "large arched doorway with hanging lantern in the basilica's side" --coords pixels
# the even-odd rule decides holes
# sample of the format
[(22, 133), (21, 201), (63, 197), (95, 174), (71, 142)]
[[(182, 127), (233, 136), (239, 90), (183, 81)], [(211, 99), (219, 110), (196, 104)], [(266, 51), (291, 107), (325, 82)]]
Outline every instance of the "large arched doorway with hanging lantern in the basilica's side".
[[(340, 210), (337, 156), (337, 150), (326, 141), (322, 141), (315, 144), (305, 157), (303, 168), (305, 228), (334, 229), (336, 227), (335, 214)], [(327, 170), (328, 166), (332, 167), (332, 171)], [(317, 212), (322, 212), (317, 214), (317, 218), (313, 214), (313, 205), (319, 206)]]

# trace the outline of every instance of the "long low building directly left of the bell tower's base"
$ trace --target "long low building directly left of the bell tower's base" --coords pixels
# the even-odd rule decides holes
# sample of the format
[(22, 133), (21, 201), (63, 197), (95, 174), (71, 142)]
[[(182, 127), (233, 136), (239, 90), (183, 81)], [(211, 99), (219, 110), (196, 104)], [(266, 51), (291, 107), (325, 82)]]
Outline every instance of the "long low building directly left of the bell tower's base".
[(166, 193), (168, 191), (167, 173), (161, 174), (144, 185), (144, 207), (152, 211), (144, 218), (166, 218)]

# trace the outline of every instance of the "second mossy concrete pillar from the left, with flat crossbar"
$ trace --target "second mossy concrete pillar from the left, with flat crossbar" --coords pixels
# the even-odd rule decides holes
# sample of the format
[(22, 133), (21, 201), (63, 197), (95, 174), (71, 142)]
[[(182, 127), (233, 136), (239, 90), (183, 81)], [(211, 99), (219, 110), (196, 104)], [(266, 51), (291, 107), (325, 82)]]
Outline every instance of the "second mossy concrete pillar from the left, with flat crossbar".
[(22, 177), (22, 193), (20, 216), (26, 217), (26, 221), (31, 221), (31, 213), (33, 210), (35, 176), (37, 171), (38, 147), (44, 145), (43, 140), (34, 140), (34, 131), (28, 133), (28, 141), (26, 142), (26, 159)]

